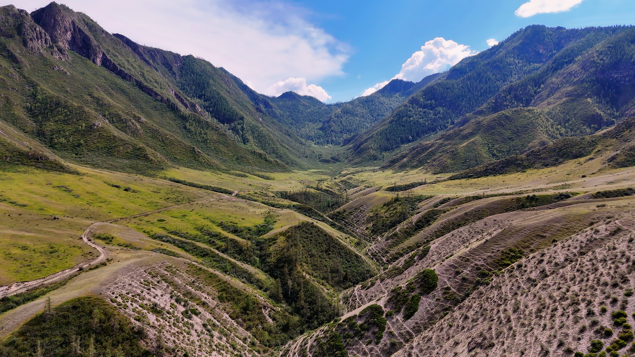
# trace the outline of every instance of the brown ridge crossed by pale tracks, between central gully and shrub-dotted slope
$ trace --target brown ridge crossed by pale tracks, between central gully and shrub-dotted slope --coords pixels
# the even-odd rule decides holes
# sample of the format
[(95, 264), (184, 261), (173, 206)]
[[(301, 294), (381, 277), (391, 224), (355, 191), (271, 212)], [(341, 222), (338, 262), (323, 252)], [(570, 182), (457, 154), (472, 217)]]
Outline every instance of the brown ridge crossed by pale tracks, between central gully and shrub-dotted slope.
[[(411, 347), (408, 347), (411, 346), (411, 341), (422, 340), (426, 335), (432, 335), (432, 340), (436, 343), (437, 338), (434, 336), (440, 332), (429, 328), (439, 318), (443, 319), (443, 316), (451, 314), (452, 311), (455, 311), (455, 315), (461, 314), (460, 311), (453, 310), (454, 307), (464, 300), (472, 299), (472, 295), (479, 294), (480, 285), (495, 285), (497, 276), (505, 274), (504, 268), (522, 258), (523, 252), (545, 248), (554, 250), (562, 244), (559, 242), (567, 242), (569, 236), (594, 224), (598, 231), (605, 232), (606, 237), (610, 238), (610, 232), (615, 228), (611, 226), (614, 217), (619, 219), (620, 215), (626, 215), (624, 219), (632, 219), (627, 213), (628, 208), (624, 208), (632, 206), (632, 199), (621, 199), (615, 202), (617, 205), (599, 209), (594, 203), (584, 203), (584, 200), (580, 202), (576, 206), (566, 208), (511, 212), (488, 217), (437, 239), (427, 253), (413, 254), (414, 261), (410, 262), (410, 267), (403, 274), (384, 280), (375, 278), (369, 284), (364, 284), (365, 288), (364, 285), (356, 286), (349, 293), (349, 311), (356, 309), (352, 314), (373, 303), (379, 304), (385, 311), (394, 313), (394, 316), (392, 313), (386, 314), (385, 331), (380, 341), (366, 341), (366, 337), (363, 337), (364, 340), (354, 337), (354, 333), (346, 325), (346, 319), (344, 323), (323, 327), (314, 335), (326, 337), (328, 331), (334, 329), (342, 335), (344, 346), (349, 353), (364, 356), (387, 356), (398, 351), (407, 354), (411, 352)], [(405, 260), (404, 257), (395, 264), (403, 264)], [(412, 294), (411, 290), (400, 290), (399, 286), (408, 286), (412, 278), (417, 281), (418, 273), (424, 269), (436, 271), (438, 286), (429, 294), (421, 293), (415, 312), (411, 313), (413, 316), (408, 318), (409, 316), (403, 315), (406, 310), (402, 313), (402, 306), (395, 302), (395, 299), (398, 299), (396, 294), (399, 291), (407, 292), (407, 300), (408, 295)], [(397, 290), (394, 290), (395, 288)], [(350, 315), (347, 314), (344, 318)], [(446, 318), (443, 321), (446, 325), (450, 320)], [(474, 339), (474, 335), (471, 337)], [(316, 351), (319, 345), (316, 341), (319, 340), (318, 337), (314, 337), (311, 345), (307, 346), (307, 339), (300, 339), (298, 341), (302, 347), (291, 344), (287, 348), (293, 346), (296, 350), (307, 349), (311, 355), (319, 354)], [(406, 349), (403, 349), (404, 346)]]

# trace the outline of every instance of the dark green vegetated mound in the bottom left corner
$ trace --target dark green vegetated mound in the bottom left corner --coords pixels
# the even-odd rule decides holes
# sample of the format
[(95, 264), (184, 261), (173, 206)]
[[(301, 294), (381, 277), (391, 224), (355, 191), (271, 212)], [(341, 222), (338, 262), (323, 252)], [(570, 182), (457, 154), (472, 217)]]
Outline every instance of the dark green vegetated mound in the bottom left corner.
[(142, 328), (97, 297), (79, 297), (27, 321), (0, 345), (3, 356), (152, 356)]

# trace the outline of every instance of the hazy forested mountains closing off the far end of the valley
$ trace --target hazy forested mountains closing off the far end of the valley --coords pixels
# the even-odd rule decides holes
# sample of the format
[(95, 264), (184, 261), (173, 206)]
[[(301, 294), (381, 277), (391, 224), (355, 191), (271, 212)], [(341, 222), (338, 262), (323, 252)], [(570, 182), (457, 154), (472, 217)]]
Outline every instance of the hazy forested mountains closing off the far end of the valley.
[(298, 137), (317, 145), (346, 144), (354, 135), (368, 130), (390, 114), (412, 93), (434, 81), (438, 75), (418, 83), (393, 79), (384, 88), (349, 102), (324, 104), (314, 97), (288, 91), (269, 97), (252, 90), (236, 76), (235, 83), (250, 98), (257, 111), (266, 113)]

